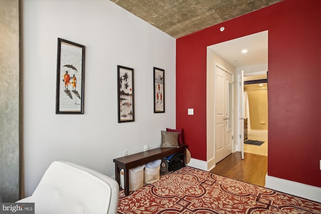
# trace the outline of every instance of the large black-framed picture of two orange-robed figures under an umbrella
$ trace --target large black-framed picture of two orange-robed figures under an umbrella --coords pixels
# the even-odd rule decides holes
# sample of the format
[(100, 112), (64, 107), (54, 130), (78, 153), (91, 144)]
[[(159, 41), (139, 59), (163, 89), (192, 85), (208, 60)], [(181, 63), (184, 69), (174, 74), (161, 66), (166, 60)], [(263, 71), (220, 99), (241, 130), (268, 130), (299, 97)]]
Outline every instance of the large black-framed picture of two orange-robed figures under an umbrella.
[(56, 114), (84, 113), (85, 46), (58, 38)]

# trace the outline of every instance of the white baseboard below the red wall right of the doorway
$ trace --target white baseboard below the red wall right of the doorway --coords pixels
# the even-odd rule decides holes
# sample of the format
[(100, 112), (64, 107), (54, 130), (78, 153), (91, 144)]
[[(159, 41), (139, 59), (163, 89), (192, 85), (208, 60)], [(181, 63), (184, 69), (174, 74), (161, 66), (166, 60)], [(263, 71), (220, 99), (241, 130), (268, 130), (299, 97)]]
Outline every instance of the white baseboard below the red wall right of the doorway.
[(321, 188), (278, 177), (265, 176), (265, 187), (291, 195), (321, 202)]

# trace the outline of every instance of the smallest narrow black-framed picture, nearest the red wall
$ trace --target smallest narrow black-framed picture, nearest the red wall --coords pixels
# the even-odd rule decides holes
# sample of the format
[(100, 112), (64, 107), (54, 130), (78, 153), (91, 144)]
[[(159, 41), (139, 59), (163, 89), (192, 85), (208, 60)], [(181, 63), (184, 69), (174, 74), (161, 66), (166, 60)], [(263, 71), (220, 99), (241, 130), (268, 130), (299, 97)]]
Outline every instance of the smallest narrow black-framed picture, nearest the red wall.
[(154, 69), (154, 113), (165, 112), (165, 70)]

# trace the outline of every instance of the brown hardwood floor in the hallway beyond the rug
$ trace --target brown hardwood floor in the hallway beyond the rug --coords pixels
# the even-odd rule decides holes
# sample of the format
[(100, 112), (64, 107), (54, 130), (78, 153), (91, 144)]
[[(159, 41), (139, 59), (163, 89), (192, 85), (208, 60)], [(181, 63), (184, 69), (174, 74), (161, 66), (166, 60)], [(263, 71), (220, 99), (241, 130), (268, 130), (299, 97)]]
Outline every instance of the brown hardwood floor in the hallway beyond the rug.
[(218, 162), (211, 172), (258, 186), (265, 185), (267, 156), (234, 152)]

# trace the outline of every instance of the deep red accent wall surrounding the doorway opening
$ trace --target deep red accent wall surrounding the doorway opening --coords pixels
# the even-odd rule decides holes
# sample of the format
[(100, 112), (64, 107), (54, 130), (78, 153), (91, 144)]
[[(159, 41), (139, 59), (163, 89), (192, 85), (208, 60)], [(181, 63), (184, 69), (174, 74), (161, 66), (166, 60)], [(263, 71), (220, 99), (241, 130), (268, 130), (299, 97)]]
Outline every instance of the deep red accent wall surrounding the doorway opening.
[(176, 123), (193, 158), (207, 159), (207, 46), (268, 30), (268, 175), (321, 187), (320, 11), (284, 0), (177, 39)]

